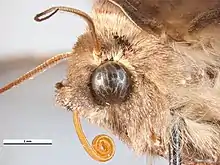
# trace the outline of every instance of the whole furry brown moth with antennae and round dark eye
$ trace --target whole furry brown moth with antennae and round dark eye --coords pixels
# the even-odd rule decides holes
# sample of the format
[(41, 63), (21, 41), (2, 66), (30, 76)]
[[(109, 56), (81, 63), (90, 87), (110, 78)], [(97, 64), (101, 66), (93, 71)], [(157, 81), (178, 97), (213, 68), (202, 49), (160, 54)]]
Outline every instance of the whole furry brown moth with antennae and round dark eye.
[[(137, 154), (160, 155), (173, 165), (219, 164), (219, 0), (97, 0), (91, 15), (59, 6), (35, 20), (59, 10), (84, 18), (86, 32), (71, 52), (52, 57), (0, 93), (67, 59), (56, 102), (75, 113), (77, 127), (79, 115)], [(104, 151), (113, 147), (106, 139)]]

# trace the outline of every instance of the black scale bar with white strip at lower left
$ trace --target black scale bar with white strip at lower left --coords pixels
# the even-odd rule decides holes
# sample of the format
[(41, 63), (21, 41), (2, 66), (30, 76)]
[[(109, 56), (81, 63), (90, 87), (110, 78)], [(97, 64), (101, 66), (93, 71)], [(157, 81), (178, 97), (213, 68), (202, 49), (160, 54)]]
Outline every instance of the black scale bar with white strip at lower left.
[(51, 139), (4, 139), (4, 146), (52, 146)]

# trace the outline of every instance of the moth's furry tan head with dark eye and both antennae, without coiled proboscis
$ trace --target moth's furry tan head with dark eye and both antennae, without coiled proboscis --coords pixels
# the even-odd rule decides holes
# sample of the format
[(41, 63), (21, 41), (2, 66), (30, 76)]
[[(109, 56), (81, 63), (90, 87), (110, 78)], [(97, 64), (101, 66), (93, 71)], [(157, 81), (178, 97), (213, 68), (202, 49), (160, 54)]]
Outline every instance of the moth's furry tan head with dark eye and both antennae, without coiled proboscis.
[[(147, 146), (142, 144), (151, 136), (148, 134), (151, 132), (151, 123), (146, 123), (151, 119), (145, 119), (152, 118), (152, 123), (157, 123), (158, 121), (153, 121), (155, 119), (153, 116), (163, 115), (156, 112), (162, 109), (164, 101), (154, 82), (145, 77), (148, 66), (141, 60), (143, 56), (136, 56), (136, 58), (129, 56), (135, 53), (135, 50), (131, 48), (126, 37), (120, 34), (110, 32), (111, 34), (106, 34), (106, 36), (111, 37), (106, 40), (101, 36), (103, 33), (96, 31), (93, 19), (80, 10), (62, 6), (52, 7), (37, 14), (35, 20), (46, 20), (59, 10), (81, 16), (88, 23), (87, 31), (78, 38), (71, 52), (45, 61), (1, 88), (0, 93), (45, 70), (46, 67), (67, 59), (67, 76), (55, 85), (56, 102), (69, 111), (78, 111), (91, 123), (110, 130), (135, 150), (144, 152)], [(120, 32), (122, 30), (118, 31)], [(138, 44), (148, 39), (135, 40), (143, 36), (139, 30), (137, 32), (138, 34), (131, 35), (134, 43)], [(139, 45), (142, 46), (138, 50), (139, 54), (144, 54), (141, 51), (146, 45)], [(149, 47), (152, 48), (152, 46)], [(157, 51), (156, 48), (153, 50)], [(118, 60), (118, 56), (123, 56), (124, 53), (128, 57), (127, 60)], [(141, 126), (149, 129), (141, 129)], [(140, 131), (146, 136), (139, 137), (141, 133), (137, 133)]]

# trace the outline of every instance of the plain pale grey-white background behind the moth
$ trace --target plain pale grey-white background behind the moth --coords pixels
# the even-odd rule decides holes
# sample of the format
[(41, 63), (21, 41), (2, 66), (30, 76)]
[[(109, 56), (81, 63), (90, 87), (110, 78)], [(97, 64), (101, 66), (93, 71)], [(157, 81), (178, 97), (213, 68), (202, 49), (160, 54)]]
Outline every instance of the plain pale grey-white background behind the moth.
[[(0, 86), (25, 73), (36, 63), (25, 60), (6, 63), (19, 56), (51, 56), (70, 51), (85, 22), (68, 13), (60, 13), (45, 22), (35, 22), (35, 14), (55, 5), (91, 11), (89, 0), (1, 0), (0, 1)], [(16, 65), (15, 65), (16, 64)], [(54, 84), (65, 76), (65, 62), (37, 78), (0, 95), (0, 165), (98, 165), (85, 153), (72, 125), (72, 115), (54, 105)], [(83, 129), (91, 141), (107, 133), (83, 120)], [(117, 138), (116, 154), (109, 165), (144, 165)], [(52, 147), (1, 147), (3, 139), (52, 139)], [(153, 164), (165, 164), (163, 159)]]

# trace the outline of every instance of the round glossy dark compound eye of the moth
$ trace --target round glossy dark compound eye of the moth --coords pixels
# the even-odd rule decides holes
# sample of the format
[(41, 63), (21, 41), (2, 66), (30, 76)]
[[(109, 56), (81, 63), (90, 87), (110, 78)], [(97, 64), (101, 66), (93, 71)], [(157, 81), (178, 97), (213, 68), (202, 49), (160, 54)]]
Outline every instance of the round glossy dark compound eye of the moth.
[(103, 103), (120, 103), (131, 92), (131, 75), (119, 63), (108, 61), (95, 69), (91, 76), (91, 92), (94, 98)]

